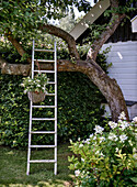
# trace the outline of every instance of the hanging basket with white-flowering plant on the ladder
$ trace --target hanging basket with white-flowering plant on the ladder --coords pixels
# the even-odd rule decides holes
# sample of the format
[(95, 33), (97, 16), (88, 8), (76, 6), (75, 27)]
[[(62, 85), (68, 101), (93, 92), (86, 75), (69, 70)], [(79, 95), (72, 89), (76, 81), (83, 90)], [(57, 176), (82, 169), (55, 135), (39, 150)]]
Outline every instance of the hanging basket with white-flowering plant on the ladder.
[(27, 94), (28, 99), (37, 103), (45, 100), (48, 80), (46, 74), (37, 74), (33, 79), (30, 77), (23, 78), (21, 86), (24, 87), (24, 94)]

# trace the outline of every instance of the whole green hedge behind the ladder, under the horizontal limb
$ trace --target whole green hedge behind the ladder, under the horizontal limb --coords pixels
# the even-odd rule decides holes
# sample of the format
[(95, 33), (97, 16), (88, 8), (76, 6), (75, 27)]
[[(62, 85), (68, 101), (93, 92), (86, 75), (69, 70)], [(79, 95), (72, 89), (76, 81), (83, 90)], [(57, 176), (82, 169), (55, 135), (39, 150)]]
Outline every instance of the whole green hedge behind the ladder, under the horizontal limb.
[[(11, 147), (27, 146), (30, 101), (21, 82), (22, 76), (0, 75), (0, 143)], [(93, 127), (102, 121), (100, 103), (103, 99), (83, 74), (58, 73), (58, 142), (88, 138)], [(53, 111), (38, 109), (35, 116), (53, 117)], [(34, 130), (45, 128), (52, 130), (53, 124), (34, 124)], [(33, 140), (34, 144), (48, 144), (54, 136), (35, 135)]]

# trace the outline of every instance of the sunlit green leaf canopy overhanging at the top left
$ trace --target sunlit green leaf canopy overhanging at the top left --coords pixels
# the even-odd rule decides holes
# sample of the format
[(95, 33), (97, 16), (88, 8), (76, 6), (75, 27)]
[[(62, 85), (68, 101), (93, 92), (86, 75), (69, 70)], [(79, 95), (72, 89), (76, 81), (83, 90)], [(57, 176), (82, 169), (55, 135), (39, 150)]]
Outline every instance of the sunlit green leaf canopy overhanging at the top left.
[(38, 35), (37, 29), (41, 24), (48, 23), (52, 19), (57, 20), (66, 16), (70, 10), (73, 12), (75, 6), (79, 11), (84, 12), (90, 8), (90, 3), (85, 0), (79, 2), (73, 0), (1, 0), (0, 34), (10, 34), (10, 30), (14, 37), (22, 40), (25, 35), (25, 38), (32, 38)]

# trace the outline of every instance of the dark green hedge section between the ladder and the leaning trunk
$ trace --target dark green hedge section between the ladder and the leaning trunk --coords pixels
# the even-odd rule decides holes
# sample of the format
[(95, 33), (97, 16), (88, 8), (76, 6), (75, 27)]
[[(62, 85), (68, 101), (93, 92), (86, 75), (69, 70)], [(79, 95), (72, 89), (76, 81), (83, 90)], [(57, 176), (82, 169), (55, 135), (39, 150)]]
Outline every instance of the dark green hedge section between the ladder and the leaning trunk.
[[(92, 132), (101, 120), (102, 96), (99, 89), (79, 73), (58, 76), (58, 129), (62, 139), (77, 140)], [(77, 132), (77, 133), (76, 133)]]

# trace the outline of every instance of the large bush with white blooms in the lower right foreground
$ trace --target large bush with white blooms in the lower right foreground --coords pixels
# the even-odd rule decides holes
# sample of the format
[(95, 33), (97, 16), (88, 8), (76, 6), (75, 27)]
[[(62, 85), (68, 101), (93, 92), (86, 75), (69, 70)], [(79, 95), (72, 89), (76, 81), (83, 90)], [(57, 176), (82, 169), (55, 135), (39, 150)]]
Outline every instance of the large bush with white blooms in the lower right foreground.
[(137, 162), (137, 117), (129, 123), (122, 112), (118, 122), (105, 128), (95, 125), (89, 139), (71, 143), (75, 155), (69, 168), (75, 170), (78, 186), (123, 186), (123, 174)]

